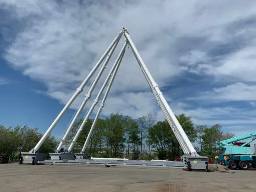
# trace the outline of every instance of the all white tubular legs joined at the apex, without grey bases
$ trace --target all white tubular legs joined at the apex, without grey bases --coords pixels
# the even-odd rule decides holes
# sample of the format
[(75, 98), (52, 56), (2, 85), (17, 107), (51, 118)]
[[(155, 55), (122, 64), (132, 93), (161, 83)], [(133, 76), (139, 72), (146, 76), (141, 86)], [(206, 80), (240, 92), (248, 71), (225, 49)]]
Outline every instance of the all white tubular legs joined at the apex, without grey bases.
[(66, 112), (66, 110), (70, 107), (70, 105), (72, 104), (72, 102), (74, 102), (74, 100), (77, 98), (77, 96), (82, 92), (84, 86), (87, 84), (87, 82), (89, 81), (89, 79), (92, 77), (92, 75), (96, 72), (96, 70), (98, 69), (98, 72), (96, 73), (94, 80), (92, 81), (92, 84), (90, 85), (90, 87), (88, 88), (81, 104), (79, 105), (78, 109), (76, 110), (72, 120), (70, 121), (70, 124), (68, 125), (64, 136), (60, 142), (60, 144), (56, 147), (56, 151), (55, 152), (59, 152), (60, 149), (62, 148), (62, 146), (65, 144), (66, 139), (68, 137), (68, 135), (70, 134), (70, 131), (72, 129), (72, 127), (74, 126), (76, 119), (80, 116), (80, 113), (82, 112), (82, 110), (84, 109), (84, 106), (87, 102), (87, 100), (90, 98), (92, 91), (94, 90), (100, 76), (102, 75), (104, 69), (106, 68), (106, 65), (108, 64), (108, 61), (110, 60), (118, 42), (120, 41), (120, 38), (124, 35), (125, 37), (125, 43), (124, 46), (122, 47), (122, 50), (120, 51), (118, 58), (116, 59), (116, 61), (114, 62), (114, 65), (112, 66), (112, 69), (110, 70), (108, 77), (106, 78), (102, 88), (100, 89), (100, 92), (98, 93), (97, 97), (92, 101), (90, 107), (88, 108), (88, 111), (86, 113), (86, 115), (84, 116), (84, 120), (82, 121), (82, 123), (80, 124), (80, 126), (78, 127), (76, 134), (74, 135), (72, 142), (70, 143), (70, 146), (68, 148), (68, 152), (70, 152), (74, 146), (74, 144), (76, 143), (76, 140), (78, 138), (78, 136), (80, 135), (80, 133), (82, 132), (82, 129), (85, 125), (85, 123), (87, 122), (88, 118), (90, 117), (90, 115), (92, 114), (96, 104), (98, 103), (98, 100), (100, 99), (100, 96), (102, 95), (106, 85), (108, 84), (107, 90), (105, 92), (104, 98), (102, 100), (102, 103), (100, 104), (100, 108), (98, 109), (98, 112), (96, 114), (96, 118), (94, 119), (94, 122), (92, 124), (92, 127), (90, 129), (90, 132), (86, 138), (86, 142), (84, 143), (84, 146), (82, 148), (81, 153), (84, 153), (85, 149), (86, 149), (86, 145), (88, 143), (88, 141), (90, 140), (90, 136), (92, 134), (92, 131), (96, 125), (96, 122), (100, 116), (100, 112), (102, 110), (102, 108), (104, 107), (104, 103), (106, 101), (106, 98), (108, 96), (108, 92), (110, 91), (110, 88), (112, 86), (112, 83), (114, 81), (114, 78), (116, 76), (116, 73), (118, 71), (118, 68), (122, 62), (122, 58), (124, 56), (124, 52), (125, 52), (125, 48), (126, 46), (129, 44), (132, 52), (134, 53), (134, 56), (136, 57), (136, 60), (138, 61), (138, 64), (142, 70), (142, 73), (144, 74), (157, 102), (158, 105), (160, 106), (160, 108), (162, 109), (162, 112), (164, 113), (164, 116), (166, 118), (166, 120), (168, 121), (168, 123), (170, 124), (170, 127), (172, 128), (184, 154), (186, 155), (190, 155), (190, 156), (199, 156), (196, 153), (196, 150), (194, 149), (194, 147), (192, 146), (192, 143), (190, 142), (190, 140), (188, 139), (188, 136), (186, 135), (186, 133), (184, 132), (182, 126), (180, 125), (180, 123), (178, 122), (176, 116), (174, 115), (174, 113), (172, 112), (170, 106), (168, 105), (168, 103), (166, 102), (166, 99), (164, 98), (162, 92), (160, 91), (158, 84), (154, 81), (154, 78), (152, 77), (152, 75), (150, 74), (146, 64), (144, 63), (144, 61), (142, 60), (138, 50), (136, 49), (136, 46), (134, 45), (134, 43), (132, 42), (132, 39), (130, 38), (130, 35), (128, 33), (128, 30), (126, 28), (122, 28), (122, 30), (120, 31), (120, 33), (116, 36), (116, 38), (114, 38), (114, 40), (112, 41), (112, 43), (110, 44), (110, 46), (107, 48), (107, 50), (104, 52), (104, 54), (102, 55), (102, 57), (100, 58), (100, 60), (97, 62), (97, 64), (94, 66), (94, 68), (92, 69), (92, 71), (89, 73), (89, 75), (86, 77), (86, 79), (84, 80), (84, 82), (82, 82), (81, 86), (79, 88), (77, 88), (76, 92), (74, 93), (74, 95), (72, 96), (72, 98), (68, 101), (68, 103), (66, 104), (66, 106), (63, 108), (63, 110), (60, 112), (60, 114), (57, 116), (57, 118), (54, 120), (54, 122), (52, 123), (52, 125), (48, 128), (48, 130), (46, 131), (46, 133), (44, 134), (44, 136), (42, 136), (42, 138), (40, 139), (40, 141), (38, 142), (38, 144), (36, 144), (36, 146), (30, 151), (30, 152), (37, 152), (38, 149), (40, 148), (40, 146), (42, 146), (42, 144), (44, 143), (44, 141), (46, 140), (46, 138), (50, 135), (50, 132), (54, 129), (54, 127), (56, 126), (56, 124), (59, 122), (59, 120), (62, 118), (62, 116), (64, 115), (64, 113)]

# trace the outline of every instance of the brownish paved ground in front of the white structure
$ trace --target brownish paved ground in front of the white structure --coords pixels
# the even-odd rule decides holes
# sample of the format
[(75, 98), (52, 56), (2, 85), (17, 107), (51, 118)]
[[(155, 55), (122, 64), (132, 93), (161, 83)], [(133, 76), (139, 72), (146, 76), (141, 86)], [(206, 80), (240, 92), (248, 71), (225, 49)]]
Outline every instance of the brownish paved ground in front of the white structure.
[[(224, 171), (219, 166), (219, 171)], [(255, 192), (256, 171), (0, 164), (0, 192)]]

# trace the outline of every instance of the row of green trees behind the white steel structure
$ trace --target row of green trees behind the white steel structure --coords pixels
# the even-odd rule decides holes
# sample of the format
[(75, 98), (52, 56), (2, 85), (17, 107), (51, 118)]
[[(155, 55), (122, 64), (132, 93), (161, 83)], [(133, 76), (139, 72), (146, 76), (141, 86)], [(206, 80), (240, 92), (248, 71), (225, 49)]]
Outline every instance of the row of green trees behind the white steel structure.
[[(176, 118), (189, 140), (194, 144), (198, 143), (199, 147), (195, 149), (201, 156), (214, 158), (219, 152), (215, 148), (215, 142), (234, 137), (234, 133), (222, 132), (220, 124), (210, 127), (194, 125), (192, 117), (183, 113), (176, 115)], [(80, 119), (73, 126), (64, 149), (67, 149), (72, 141), (82, 120)], [(72, 152), (81, 151), (93, 121), (94, 119), (88, 119)], [(38, 132), (38, 128), (29, 128), (26, 125), (8, 128), (0, 125), (0, 154), (8, 154), (10, 160), (16, 160), (21, 152), (30, 151), (42, 135)], [(60, 140), (51, 135), (40, 147), (39, 152), (44, 152), (47, 156), (49, 152), (54, 152), (59, 142)], [(86, 152), (89, 157), (133, 160), (174, 160), (183, 155), (182, 148), (167, 120), (156, 121), (156, 117), (151, 113), (137, 119), (120, 113), (112, 113), (105, 119), (100, 118), (92, 132)]]

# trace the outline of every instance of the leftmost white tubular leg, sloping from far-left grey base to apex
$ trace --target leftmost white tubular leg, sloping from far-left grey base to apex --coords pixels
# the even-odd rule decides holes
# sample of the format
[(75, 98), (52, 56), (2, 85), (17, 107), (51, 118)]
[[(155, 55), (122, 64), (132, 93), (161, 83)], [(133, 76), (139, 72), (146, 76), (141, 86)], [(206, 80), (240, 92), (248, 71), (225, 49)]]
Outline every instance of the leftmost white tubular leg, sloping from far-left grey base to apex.
[(82, 92), (84, 86), (86, 85), (86, 83), (88, 82), (88, 80), (92, 77), (92, 75), (94, 74), (94, 72), (96, 71), (96, 69), (100, 66), (100, 64), (102, 63), (102, 61), (104, 60), (104, 58), (106, 57), (106, 55), (108, 54), (108, 52), (110, 52), (110, 49), (114, 46), (114, 44), (116, 43), (116, 40), (118, 38), (120, 38), (124, 33), (124, 30), (122, 30), (118, 36), (116, 36), (116, 38), (114, 38), (114, 40), (112, 41), (112, 43), (110, 44), (110, 46), (107, 48), (107, 50), (104, 52), (104, 54), (102, 55), (102, 57), (100, 58), (100, 60), (97, 62), (97, 64), (94, 66), (94, 68), (92, 69), (92, 71), (88, 74), (88, 76), (86, 77), (86, 79), (84, 80), (84, 82), (82, 82), (82, 84), (80, 85), (79, 88), (76, 89), (76, 92), (74, 93), (74, 95), (70, 98), (70, 100), (68, 101), (68, 103), (64, 106), (64, 108), (62, 109), (62, 111), (60, 112), (60, 114), (58, 114), (58, 116), (56, 117), (56, 119), (54, 120), (54, 122), (52, 122), (51, 126), (48, 128), (48, 130), (44, 133), (44, 135), (42, 136), (42, 138), (39, 140), (39, 142), (36, 144), (36, 146), (30, 150), (30, 152), (37, 152), (38, 149), (42, 146), (42, 144), (44, 143), (44, 141), (46, 140), (46, 138), (50, 135), (50, 133), (52, 132), (52, 130), (54, 129), (54, 127), (56, 126), (56, 124), (60, 121), (60, 119), (62, 118), (62, 116), (64, 115), (64, 113), (66, 112), (66, 110), (68, 110), (68, 108), (70, 107), (70, 105), (74, 102), (74, 100), (76, 99), (76, 97), (80, 94), (80, 92)]

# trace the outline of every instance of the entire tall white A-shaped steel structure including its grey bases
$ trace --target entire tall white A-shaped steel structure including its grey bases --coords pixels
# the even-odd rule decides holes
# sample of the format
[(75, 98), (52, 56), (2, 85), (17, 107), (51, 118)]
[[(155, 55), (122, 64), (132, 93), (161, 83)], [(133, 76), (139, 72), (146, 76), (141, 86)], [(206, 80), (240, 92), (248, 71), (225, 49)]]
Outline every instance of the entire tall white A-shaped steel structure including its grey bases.
[[(98, 83), (98, 80), (100, 79), (101, 75), (103, 74), (104, 70), (106, 69), (108, 62), (114, 52), (114, 50), (116, 49), (117, 44), (119, 43), (121, 37), (124, 35), (124, 45), (121, 49), (121, 51), (118, 54), (118, 57), (116, 58), (106, 80), (104, 81), (100, 91), (98, 92), (98, 95), (96, 96), (96, 98), (94, 98), (94, 100), (92, 100), (84, 118), (83, 121), (80, 123), (80, 125), (78, 126), (74, 137), (72, 138), (72, 141), (67, 144), (66, 140), (68, 138), (68, 136), (70, 135), (70, 131), (72, 130), (74, 124), (76, 123), (78, 117), (80, 116), (82, 110), (84, 109), (87, 101), (90, 99), (91, 94), (96, 86), (96, 84)], [(186, 133), (184, 132), (182, 126), (180, 125), (180, 123), (178, 122), (177, 118), (175, 117), (174, 113), (172, 112), (170, 106), (168, 105), (168, 103), (166, 102), (166, 99), (164, 98), (162, 92), (160, 91), (158, 84), (155, 82), (154, 78), (152, 77), (152, 75), (150, 74), (146, 64), (144, 63), (144, 61), (142, 60), (136, 46), (134, 45), (134, 43), (132, 42), (132, 39), (129, 35), (129, 32), (126, 28), (122, 28), (122, 30), (119, 32), (119, 34), (114, 38), (114, 40), (112, 41), (112, 43), (110, 44), (110, 46), (106, 49), (106, 51), (104, 52), (104, 54), (102, 55), (102, 57), (98, 60), (98, 62), (96, 63), (96, 65), (94, 66), (94, 68), (91, 70), (91, 72), (88, 74), (88, 76), (85, 78), (85, 80), (82, 82), (82, 84), (80, 85), (80, 87), (78, 87), (76, 89), (76, 92), (74, 93), (74, 95), (70, 98), (70, 100), (68, 101), (68, 103), (66, 104), (66, 106), (64, 106), (64, 108), (62, 109), (62, 111), (60, 112), (60, 114), (58, 114), (58, 116), (56, 117), (56, 119), (54, 120), (54, 122), (52, 122), (51, 126), (48, 128), (48, 130), (45, 132), (45, 134), (42, 136), (42, 138), (40, 139), (40, 141), (36, 144), (36, 146), (30, 150), (30, 152), (22, 152), (22, 158), (20, 160), (20, 163), (31, 163), (31, 164), (41, 164), (41, 163), (66, 163), (66, 164), (88, 164), (88, 155), (86, 155), (85, 149), (86, 146), (88, 144), (88, 141), (90, 140), (92, 131), (94, 130), (94, 127), (98, 121), (98, 118), (100, 116), (100, 112), (102, 111), (102, 108), (104, 107), (106, 98), (108, 96), (108, 93), (110, 91), (110, 88), (112, 86), (112, 83), (115, 79), (116, 73), (118, 71), (118, 68), (122, 62), (122, 58), (124, 56), (124, 53), (126, 51), (126, 46), (130, 45), (131, 50), (136, 58), (136, 60), (138, 61), (138, 64), (142, 70), (142, 74), (145, 76), (155, 98), (156, 101), (158, 102), (158, 105), (160, 106), (160, 108), (162, 109), (162, 112), (164, 113), (164, 116), (166, 118), (166, 120), (168, 121), (168, 123), (170, 124), (183, 152), (184, 155), (182, 156), (182, 162), (178, 162), (178, 166), (181, 165), (181, 167), (184, 168), (184, 166), (186, 168), (188, 168), (188, 170), (192, 170), (192, 169), (205, 169), (206, 171), (208, 171), (208, 162), (207, 162), (207, 157), (202, 157), (199, 154), (197, 154), (196, 150), (194, 149), (194, 147), (192, 146), (190, 140), (188, 139), (188, 136), (186, 135)], [(50, 133), (52, 132), (52, 130), (54, 129), (54, 127), (56, 126), (56, 124), (58, 124), (59, 120), (62, 118), (62, 116), (64, 115), (64, 113), (66, 112), (66, 110), (70, 107), (70, 105), (74, 102), (74, 100), (77, 98), (77, 96), (83, 92), (84, 86), (88, 83), (88, 81), (92, 78), (94, 74), (94, 77), (92, 79), (92, 82), (88, 88), (88, 90), (85, 92), (84, 97), (82, 98), (82, 101), (80, 102), (78, 108), (76, 109), (76, 112), (74, 113), (73, 117), (70, 120), (70, 123), (68, 124), (63, 138), (60, 141), (60, 143), (56, 146), (54, 152), (50, 153), (50, 160), (44, 160), (44, 154), (38, 152), (40, 146), (42, 146), (42, 144), (44, 143), (44, 141), (46, 140), (46, 138), (50, 135)], [(107, 88), (106, 88), (107, 87)], [(106, 88), (106, 90), (105, 90)], [(76, 140), (78, 139), (78, 136), (80, 135), (80, 133), (82, 132), (84, 125), (86, 124), (88, 118), (90, 118), (90, 115), (92, 114), (94, 108), (96, 107), (96, 105), (98, 104), (98, 100), (101, 98), (102, 93), (104, 92), (104, 96), (102, 99), (102, 102), (98, 108), (98, 112), (96, 114), (96, 117), (94, 119), (94, 122), (92, 124), (92, 127), (90, 128), (90, 132), (86, 138), (86, 141), (84, 143), (84, 146), (82, 148), (82, 150), (80, 151), (80, 153), (78, 154), (74, 154), (72, 153), (72, 149), (74, 147), (74, 144), (76, 143)], [(63, 150), (64, 147), (67, 150)], [(94, 163), (97, 163), (96, 161), (100, 161), (103, 164), (109, 164), (109, 159), (91, 159), (90, 160), (90, 164), (93, 164), (92, 161), (95, 161)], [(114, 161), (111, 159), (111, 161)], [(120, 160), (118, 160), (120, 161)], [(130, 165), (130, 166), (139, 166), (139, 162), (136, 160), (127, 160), (124, 159), (124, 162), (122, 163), (122, 165)], [(126, 161), (129, 161), (129, 163), (126, 163)], [(98, 163), (100, 163), (98, 162)], [(141, 165), (142, 166), (146, 166), (146, 165), (152, 165), (152, 166), (157, 166), (159, 167), (161, 164), (163, 167), (168, 167), (168, 162), (152, 162), (152, 161), (141, 161)], [(172, 165), (174, 163), (172, 162)], [(170, 166), (169, 166), (170, 167)]]

